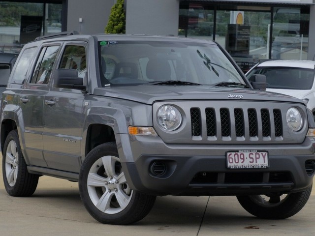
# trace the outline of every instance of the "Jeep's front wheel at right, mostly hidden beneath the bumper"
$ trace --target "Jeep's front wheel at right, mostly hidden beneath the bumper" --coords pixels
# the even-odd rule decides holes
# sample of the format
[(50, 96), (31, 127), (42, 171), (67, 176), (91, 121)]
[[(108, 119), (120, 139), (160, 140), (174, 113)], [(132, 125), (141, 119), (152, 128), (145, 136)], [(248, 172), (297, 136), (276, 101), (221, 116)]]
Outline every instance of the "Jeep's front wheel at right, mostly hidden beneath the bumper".
[(312, 186), (297, 193), (237, 196), (237, 200), (245, 210), (256, 217), (285, 219), (295, 215), (305, 206), (311, 192)]

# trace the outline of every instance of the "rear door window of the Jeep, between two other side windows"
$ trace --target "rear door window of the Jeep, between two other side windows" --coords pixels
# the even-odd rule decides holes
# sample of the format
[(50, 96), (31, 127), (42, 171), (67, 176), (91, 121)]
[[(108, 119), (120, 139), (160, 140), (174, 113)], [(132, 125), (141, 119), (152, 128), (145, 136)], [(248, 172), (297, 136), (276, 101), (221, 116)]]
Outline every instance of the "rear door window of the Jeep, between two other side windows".
[(60, 46), (42, 48), (32, 77), (32, 84), (48, 84)]

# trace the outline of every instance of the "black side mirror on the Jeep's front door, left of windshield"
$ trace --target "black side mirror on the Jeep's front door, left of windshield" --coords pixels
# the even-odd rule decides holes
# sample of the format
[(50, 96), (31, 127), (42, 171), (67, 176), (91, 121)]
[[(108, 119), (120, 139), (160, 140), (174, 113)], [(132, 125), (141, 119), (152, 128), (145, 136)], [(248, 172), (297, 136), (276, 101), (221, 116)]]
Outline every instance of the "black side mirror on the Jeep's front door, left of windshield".
[(83, 78), (78, 77), (75, 69), (57, 69), (53, 75), (54, 87), (64, 89), (86, 89)]

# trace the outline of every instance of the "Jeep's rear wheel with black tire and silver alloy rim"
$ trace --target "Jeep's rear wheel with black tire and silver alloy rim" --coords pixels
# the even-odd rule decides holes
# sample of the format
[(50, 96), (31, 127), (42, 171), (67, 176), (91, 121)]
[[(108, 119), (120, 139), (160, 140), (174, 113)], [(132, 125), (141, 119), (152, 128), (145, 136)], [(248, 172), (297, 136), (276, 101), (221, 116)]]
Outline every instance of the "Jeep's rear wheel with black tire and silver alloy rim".
[(14, 197), (31, 196), (39, 176), (27, 170), (17, 130), (12, 130), (6, 137), (2, 153), (2, 175), (7, 193)]

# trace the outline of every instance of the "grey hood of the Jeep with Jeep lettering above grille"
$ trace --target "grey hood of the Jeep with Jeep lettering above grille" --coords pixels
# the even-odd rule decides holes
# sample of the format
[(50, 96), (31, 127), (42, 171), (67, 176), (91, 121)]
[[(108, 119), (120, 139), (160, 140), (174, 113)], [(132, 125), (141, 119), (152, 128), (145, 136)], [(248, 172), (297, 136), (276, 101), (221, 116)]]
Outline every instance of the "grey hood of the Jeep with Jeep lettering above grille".
[(212, 86), (138, 85), (108, 87), (94, 89), (94, 95), (115, 97), (144, 104), (165, 100), (265, 100), (303, 103), (299, 99), (279, 93)]

